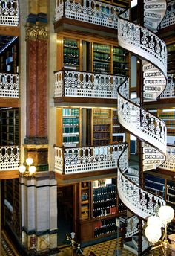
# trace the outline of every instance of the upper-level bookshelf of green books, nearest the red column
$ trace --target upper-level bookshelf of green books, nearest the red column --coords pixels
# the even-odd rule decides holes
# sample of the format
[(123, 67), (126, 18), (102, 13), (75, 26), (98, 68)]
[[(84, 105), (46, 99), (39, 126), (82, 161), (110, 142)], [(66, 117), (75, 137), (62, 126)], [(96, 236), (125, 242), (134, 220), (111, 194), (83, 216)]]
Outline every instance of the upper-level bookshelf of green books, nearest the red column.
[(63, 65), (65, 68), (79, 69), (79, 41), (65, 38), (63, 40)]

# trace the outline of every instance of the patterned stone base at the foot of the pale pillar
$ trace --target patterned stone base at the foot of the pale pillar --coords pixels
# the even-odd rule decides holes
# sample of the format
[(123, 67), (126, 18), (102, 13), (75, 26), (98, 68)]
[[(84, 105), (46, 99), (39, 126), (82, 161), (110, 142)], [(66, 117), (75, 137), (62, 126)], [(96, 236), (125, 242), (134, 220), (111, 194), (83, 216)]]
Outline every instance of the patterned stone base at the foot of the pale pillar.
[(30, 231), (22, 231), (22, 244), (26, 255), (56, 255), (59, 252), (57, 248), (58, 231), (45, 231), (39, 234), (33, 234)]

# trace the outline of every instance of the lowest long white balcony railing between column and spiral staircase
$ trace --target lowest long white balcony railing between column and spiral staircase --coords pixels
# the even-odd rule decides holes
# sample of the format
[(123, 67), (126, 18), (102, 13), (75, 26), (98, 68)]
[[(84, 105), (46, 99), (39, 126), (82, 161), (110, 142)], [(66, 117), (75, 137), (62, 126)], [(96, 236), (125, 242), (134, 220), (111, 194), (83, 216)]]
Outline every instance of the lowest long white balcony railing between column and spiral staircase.
[(55, 147), (55, 171), (61, 174), (88, 173), (117, 168), (125, 144), (100, 147)]

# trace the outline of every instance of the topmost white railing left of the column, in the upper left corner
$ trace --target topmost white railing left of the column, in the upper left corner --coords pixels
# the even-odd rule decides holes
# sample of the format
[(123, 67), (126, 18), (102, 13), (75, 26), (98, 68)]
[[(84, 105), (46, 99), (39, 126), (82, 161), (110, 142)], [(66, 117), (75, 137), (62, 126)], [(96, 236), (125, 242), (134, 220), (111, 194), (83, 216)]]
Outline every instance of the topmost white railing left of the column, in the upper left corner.
[(0, 25), (19, 25), (19, 1), (1, 0), (0, 2)]

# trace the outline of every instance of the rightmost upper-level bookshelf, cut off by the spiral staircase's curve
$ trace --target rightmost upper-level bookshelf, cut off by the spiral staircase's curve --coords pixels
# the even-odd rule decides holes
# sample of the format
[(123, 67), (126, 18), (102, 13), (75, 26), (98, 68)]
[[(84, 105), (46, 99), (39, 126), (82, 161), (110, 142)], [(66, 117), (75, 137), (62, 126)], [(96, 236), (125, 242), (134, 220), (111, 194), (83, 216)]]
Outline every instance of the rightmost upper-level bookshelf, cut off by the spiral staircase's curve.
[(128, 74), (128, 57), (126, 51), (113, 46), (113, 74)]

